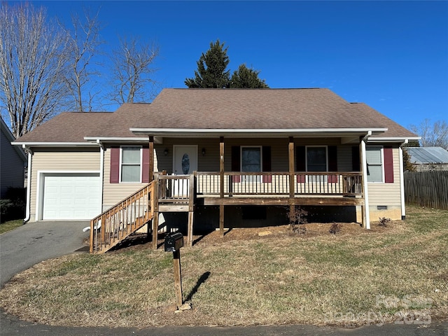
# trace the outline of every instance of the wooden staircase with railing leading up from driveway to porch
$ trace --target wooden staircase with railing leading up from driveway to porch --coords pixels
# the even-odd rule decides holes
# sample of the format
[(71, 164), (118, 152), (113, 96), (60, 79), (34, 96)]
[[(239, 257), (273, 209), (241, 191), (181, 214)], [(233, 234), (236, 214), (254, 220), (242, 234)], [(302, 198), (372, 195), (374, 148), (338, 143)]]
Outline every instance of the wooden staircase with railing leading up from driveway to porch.
[(155, 183), (141, 188), (90, 221), (90, 253), (104, 253), (154, 217)]

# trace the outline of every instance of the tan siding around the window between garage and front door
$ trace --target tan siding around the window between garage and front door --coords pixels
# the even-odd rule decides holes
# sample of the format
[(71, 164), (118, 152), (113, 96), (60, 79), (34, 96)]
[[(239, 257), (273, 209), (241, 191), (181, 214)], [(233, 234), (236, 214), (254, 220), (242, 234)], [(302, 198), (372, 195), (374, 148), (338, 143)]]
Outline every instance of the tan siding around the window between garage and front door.
[[(156, 151), (155, 151), (156, 152)], [(162, 154), (163, 155), (163, 154)], [(154, 170), (158, 171), (158, 155), (154, 153)], [(111, 183), (111, 151), (104, 148), (103, 211), (135, 193), (148, 183)]]

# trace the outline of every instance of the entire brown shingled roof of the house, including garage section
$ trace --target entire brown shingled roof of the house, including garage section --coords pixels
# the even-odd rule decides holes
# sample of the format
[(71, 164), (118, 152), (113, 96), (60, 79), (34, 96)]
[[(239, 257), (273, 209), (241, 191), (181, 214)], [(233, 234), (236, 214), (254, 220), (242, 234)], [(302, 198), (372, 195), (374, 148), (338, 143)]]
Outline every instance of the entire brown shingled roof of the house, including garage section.
[(138, 137), (130, 129), (385, 129), (380, 137), (416, 137), (365, 104), (328, 89), (165, 89), (151, 104), (114, 113), (61, 113), (16, 142), (83, 142)]

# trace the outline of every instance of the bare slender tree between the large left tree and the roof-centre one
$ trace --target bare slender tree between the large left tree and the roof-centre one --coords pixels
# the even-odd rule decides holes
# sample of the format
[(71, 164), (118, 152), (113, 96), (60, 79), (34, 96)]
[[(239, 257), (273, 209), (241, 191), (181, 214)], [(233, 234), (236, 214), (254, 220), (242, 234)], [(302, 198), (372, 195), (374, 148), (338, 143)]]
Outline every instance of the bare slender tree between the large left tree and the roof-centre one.
[[(92, 111), (99, 92), (93, 92), (92, 85), (99, 71), (92, 66), (92, 58), (99, 54), (99, 47), (104, 44), (99, 32), (101, 23), (98, 20), (99, 11), (90, 15), (84, 10), (84, 18), (77, 14), (71, 15), (72, 29), (63, 28), (68, 36), (67, 50), (69, 52), (69, 72), (66, 85), (73, 99), (71, 109), (85, 112)], [(89, 89), (85, 87), (89, 83)], [(97, 103), (99, 104), (99, 103)]]

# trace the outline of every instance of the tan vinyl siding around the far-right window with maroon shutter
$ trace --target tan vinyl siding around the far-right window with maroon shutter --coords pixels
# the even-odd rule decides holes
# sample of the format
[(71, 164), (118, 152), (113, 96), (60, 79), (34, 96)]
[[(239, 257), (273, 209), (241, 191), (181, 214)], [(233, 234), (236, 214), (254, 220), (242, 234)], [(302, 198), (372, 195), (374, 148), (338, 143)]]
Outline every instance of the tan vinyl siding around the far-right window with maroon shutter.
[(368, 183), (369, 205), (400, 206), (400, 156), (393, 148), (393, 183)]

